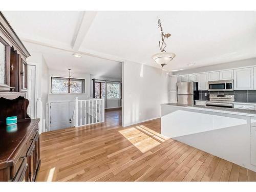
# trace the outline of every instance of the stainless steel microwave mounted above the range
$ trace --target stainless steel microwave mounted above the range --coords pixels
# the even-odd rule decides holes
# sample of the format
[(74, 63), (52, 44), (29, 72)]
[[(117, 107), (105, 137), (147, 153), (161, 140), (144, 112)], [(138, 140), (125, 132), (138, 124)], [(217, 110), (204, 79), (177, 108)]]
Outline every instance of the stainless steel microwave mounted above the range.
[(233, 91), (233, 80), (208, 81), (208, 91)]

